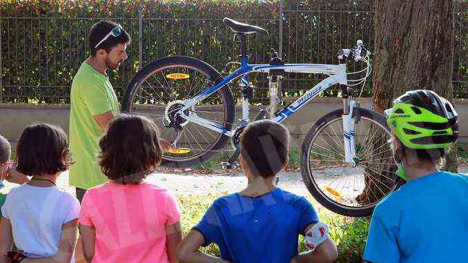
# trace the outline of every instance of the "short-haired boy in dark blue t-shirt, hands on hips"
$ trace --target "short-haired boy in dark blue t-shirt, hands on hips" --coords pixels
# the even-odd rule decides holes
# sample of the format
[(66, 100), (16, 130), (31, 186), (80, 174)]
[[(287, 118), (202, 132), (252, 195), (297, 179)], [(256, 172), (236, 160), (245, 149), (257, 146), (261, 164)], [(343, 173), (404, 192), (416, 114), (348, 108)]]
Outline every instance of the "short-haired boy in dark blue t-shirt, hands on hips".
[[(298, 255), (298, 236), (319, 222), (304, 198), (275, 186), (288, 162), (289, 133), (273, 121), (255, 121), (242, 133), (240, 164), (247, 187), (221, 197), (182, 240), (181, 262), (333, 262), (338, 252), (327, 235), (315, 251)], [(215, 243), (221, 258), (198, 251)]]

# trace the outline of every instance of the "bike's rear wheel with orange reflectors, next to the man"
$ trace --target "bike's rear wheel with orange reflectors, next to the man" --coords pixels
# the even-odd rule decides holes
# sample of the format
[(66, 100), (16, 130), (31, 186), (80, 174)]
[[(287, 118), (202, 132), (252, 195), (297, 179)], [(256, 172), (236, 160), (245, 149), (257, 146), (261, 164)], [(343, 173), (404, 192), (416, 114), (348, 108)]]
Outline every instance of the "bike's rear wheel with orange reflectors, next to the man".
[[(140, 70), (128, 85), (122, 110), (153, 119), (159, 136), (175, 145), (164, 152), (162, 165), (188, 167), (201, 164), (222, 150), (228, 137), (188, 121), (176, 113), (203, 90), (210, 88), (220, 73), (193, 57), (172, 56), (153, 61)], [(198, 101), (184, 111), (231, 130), (234, 99), (228, 86)]]

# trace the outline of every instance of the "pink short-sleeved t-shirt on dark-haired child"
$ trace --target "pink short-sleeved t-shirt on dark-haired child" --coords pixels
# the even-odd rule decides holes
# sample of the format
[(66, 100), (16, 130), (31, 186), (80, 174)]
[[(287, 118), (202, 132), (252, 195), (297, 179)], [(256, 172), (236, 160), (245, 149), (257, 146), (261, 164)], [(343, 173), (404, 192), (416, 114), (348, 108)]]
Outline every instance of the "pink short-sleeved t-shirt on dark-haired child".
[(92, 262), (168, 262), (165, 226), (180, 211), (166, 189), (143, 182), (106, 182), (90, 188), (81, 202), (79, 222), (94, 226)]

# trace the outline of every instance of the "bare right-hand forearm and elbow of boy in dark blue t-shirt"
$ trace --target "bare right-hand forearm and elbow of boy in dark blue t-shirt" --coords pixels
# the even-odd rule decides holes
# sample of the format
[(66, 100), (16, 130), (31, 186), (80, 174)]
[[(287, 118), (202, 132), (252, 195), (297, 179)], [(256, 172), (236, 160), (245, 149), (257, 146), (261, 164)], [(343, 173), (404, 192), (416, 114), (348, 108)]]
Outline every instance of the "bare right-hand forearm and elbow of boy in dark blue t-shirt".
[[(314, 224), (309, 224), (306, 227), (305, 233), (314, 226)], [(305, 234), (304, 233), (304, 234)], [(299, 255), (293, 257), (291, 263), (309, 263), (309, 262), (318, 262), (318, 263), (328, 263), (334, 262), (338, 258), (338, 250), (336, 249), (335, 243), (331, 240), (331, 237), (326, 237), (326, 240), (322, 242), (314, 251), (300, 253)]]

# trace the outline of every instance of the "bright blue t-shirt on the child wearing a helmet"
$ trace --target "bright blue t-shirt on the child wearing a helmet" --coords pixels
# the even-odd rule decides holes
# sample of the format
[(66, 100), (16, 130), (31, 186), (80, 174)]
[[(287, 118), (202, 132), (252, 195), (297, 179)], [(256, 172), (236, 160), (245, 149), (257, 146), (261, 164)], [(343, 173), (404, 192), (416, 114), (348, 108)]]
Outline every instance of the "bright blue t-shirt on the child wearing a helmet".
[(432, 173), (404, 184), (376, 206), (364, 259), (467, 262), (468, 176)]

